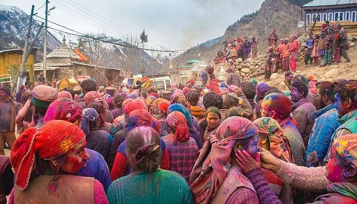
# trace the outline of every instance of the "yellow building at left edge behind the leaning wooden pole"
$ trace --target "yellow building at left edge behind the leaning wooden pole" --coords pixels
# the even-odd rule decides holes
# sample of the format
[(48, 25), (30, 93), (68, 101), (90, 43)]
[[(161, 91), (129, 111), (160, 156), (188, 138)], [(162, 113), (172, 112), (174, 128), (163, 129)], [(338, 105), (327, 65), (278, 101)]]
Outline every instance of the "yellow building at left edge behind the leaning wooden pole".
[[(34, 79), (34, 62), (37, 51), (37, 47), (32, 48), (24, 67), (24, 70), (28, 70), (30, 73), (30, 81)], [(0, 51), (0, 75), (2, 77), (9, 76), (13, 80), (16, 79), (17, 71), (22, 61), (22, 53), (22, 49)]]

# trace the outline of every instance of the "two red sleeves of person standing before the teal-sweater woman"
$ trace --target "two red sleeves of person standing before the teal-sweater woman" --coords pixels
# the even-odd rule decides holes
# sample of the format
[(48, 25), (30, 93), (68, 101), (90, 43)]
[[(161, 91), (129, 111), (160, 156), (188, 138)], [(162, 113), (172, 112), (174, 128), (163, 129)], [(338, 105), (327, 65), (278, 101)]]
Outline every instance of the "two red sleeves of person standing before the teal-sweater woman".
[[(124, 176), (127, 165), (129, 165), (129, 161), (127, 160), (127, 157), (125, 157), (123, 154), (121, 154), (121, 152), (118, 151), (115, 156), (112, 171), (110, 172), (110, 180), (114, 181)], [(168, 170), (169, 167), (170, 167), (169, 153), (166, 148), (161, 157), (160, 168)]]

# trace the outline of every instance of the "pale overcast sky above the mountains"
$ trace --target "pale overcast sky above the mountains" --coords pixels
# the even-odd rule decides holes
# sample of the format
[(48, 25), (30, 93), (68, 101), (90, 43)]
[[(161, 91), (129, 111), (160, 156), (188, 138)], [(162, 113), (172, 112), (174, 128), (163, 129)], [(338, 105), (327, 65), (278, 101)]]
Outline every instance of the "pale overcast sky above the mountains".
[[(56, 9), (48, 20), (82, 33), (99, 32), (120, 38), (138, 35), (145, 29), (149, 46), (185, 49), (221, 36), (228, 25), (258, 10), (263, 1), (50, 0), (48, 7), (55, 5)], [(2, 0), (0, 4), (16, 6), (29, 14), (32, 4), (36, 11), (44, 0)], [(44, 16), (44, 7), (38, 15)]]

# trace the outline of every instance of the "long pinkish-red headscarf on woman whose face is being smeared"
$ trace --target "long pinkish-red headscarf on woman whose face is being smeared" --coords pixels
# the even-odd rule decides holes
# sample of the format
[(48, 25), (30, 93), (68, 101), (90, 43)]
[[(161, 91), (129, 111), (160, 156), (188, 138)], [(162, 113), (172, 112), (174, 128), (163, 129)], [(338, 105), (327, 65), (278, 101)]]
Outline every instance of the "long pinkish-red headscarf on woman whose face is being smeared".
[(191, 173), (191, 191), (196, 202), (210, 202), (228, 174), (236, 142), (255, 135), (258, 130), (254, 123), (233, 116), (225, 119), (216, 134), (206, 139)]

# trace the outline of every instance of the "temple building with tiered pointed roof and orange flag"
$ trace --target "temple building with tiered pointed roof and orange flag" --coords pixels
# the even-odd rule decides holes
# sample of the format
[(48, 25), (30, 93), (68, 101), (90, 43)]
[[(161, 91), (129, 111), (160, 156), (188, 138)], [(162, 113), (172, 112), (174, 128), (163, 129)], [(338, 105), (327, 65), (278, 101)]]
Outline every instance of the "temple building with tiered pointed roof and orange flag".
[[(35, 75), (40, 71), (43, 71), (43, 62), (35, 64)], [(48, 81), (89, 76), (98, 85), (108, 86), (106, 78), (112, 84), (123, 80), (120, 68), (94, 66), (79, 49), (67, 47), (66, 39), (58, 49), (47, 55), (46, 71)]]

